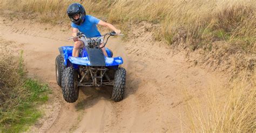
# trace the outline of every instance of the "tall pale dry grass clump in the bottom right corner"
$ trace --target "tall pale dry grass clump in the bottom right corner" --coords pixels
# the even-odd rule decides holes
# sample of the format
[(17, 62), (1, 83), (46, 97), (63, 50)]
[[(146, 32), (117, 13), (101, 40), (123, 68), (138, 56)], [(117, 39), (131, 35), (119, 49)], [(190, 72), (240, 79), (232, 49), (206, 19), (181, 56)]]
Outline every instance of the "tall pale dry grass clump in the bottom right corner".
[(255, 132), (255, 84), (235, 80), (230, 88), (223, 90), (226, 91), (224, 96), (220, 96), (215, 87), (208, 91), (203, 98), (206, 104), (199, 103), (197, 99), (188, 101), (190, 131)]

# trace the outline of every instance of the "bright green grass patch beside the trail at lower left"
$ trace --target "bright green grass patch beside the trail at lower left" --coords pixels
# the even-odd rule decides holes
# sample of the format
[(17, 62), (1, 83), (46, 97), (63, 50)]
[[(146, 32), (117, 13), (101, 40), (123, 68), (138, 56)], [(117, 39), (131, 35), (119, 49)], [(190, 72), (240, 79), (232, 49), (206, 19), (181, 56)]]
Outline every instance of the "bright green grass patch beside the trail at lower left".
[(20, 88), (14, 88), (18, 93), (11, 95), (10, 100), (0, 108), (0, 130), (2, 132), (23, 132), (35, 123), (42, 112), (38, 105), (48, 101), (49, 87), (38, 80), (28, 78)]

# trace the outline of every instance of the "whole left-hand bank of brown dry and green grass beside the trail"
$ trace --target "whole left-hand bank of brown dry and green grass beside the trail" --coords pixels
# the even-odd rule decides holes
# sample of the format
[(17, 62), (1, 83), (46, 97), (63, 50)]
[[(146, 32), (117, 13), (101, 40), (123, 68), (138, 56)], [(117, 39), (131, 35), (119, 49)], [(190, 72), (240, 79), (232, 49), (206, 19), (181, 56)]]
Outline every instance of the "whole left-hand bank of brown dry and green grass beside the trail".
[(1, 40), (0, 132), (26, 131), (41, 117), (42, 112), (37, 106), (48, 101), (49, 89), (47, 85), (26, 77), (22, 53), (17, 58), (6, 47)]

